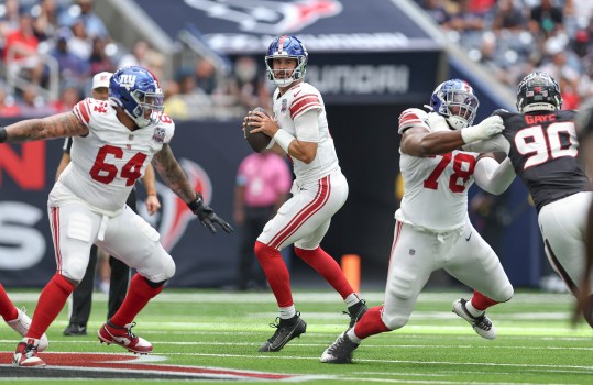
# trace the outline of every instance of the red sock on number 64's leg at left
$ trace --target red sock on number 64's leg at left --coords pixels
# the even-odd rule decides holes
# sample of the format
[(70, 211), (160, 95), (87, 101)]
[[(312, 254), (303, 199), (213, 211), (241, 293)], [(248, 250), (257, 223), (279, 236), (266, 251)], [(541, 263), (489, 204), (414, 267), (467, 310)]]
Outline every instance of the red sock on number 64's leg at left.
[(57, 273), (54, 274), (41, 292), (26, 338), (39, 340), (56, 319), (73, 292), (74, 284), (72, 282)]

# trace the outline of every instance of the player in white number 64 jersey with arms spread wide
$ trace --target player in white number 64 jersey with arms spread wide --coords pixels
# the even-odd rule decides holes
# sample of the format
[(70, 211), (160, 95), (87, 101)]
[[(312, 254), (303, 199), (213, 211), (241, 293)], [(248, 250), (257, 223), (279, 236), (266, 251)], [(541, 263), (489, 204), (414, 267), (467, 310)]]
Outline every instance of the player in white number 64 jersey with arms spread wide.
[(124, 67), (109, 82), (109, 101), (87, 98), (73, 112), (24, 120), (0, 128), (0, 143), (73, 136), (72, 162), (50, 193), (47, 212), (57, 272), (40, 295), (31, 328), (17, 346), (13, 364), (44, 366), (40, 338), (83, 278), (95, 243), (138, 271), (123, 304), (99, 330), (99, 340), (147, 354), (152, 344), (131, 328), (135, 316), (161, 293), (175, 263), (160, 235), (125, 200), (147, 164), (212, 233), (232, 228), (220, 219), (189, 184), (169, 147), (173, 120), (163, 113), (163, 94), (154, 75)]

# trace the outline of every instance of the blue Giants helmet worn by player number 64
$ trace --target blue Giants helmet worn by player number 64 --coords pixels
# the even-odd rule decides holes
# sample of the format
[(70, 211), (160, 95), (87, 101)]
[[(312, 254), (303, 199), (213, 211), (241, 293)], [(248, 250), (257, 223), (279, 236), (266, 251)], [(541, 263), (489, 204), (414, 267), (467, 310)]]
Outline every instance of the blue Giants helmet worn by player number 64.
[(158, 80), (150, 70), (131, 66), (118, 69), (109, 80), (109, 99), (122, 107), (143, 128), (153, 122), (146, 117), (150, 111), (163, 111), (163, 91)]

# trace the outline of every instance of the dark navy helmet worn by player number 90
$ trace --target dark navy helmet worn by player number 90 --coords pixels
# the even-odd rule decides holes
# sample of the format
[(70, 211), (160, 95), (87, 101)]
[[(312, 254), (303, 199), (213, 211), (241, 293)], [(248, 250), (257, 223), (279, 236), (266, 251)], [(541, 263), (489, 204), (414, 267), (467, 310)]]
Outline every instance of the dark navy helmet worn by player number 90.
[(524, 77), (517, 86), (519, 112), (558, 111), (560, 108), (560, 86), (550, 75), (535, 72)]

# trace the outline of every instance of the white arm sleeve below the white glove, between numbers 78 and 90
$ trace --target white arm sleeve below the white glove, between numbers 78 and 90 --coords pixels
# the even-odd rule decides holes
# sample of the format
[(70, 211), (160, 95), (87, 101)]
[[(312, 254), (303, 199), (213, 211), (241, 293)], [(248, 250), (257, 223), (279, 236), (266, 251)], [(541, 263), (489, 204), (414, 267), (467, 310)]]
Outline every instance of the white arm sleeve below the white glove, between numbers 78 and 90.
[(498, 163), (485, 156), (477, 161), (473, 176), (483, 190), (498, 195), (504, 193), (515, 179), (515, 169), (508, 157)]

